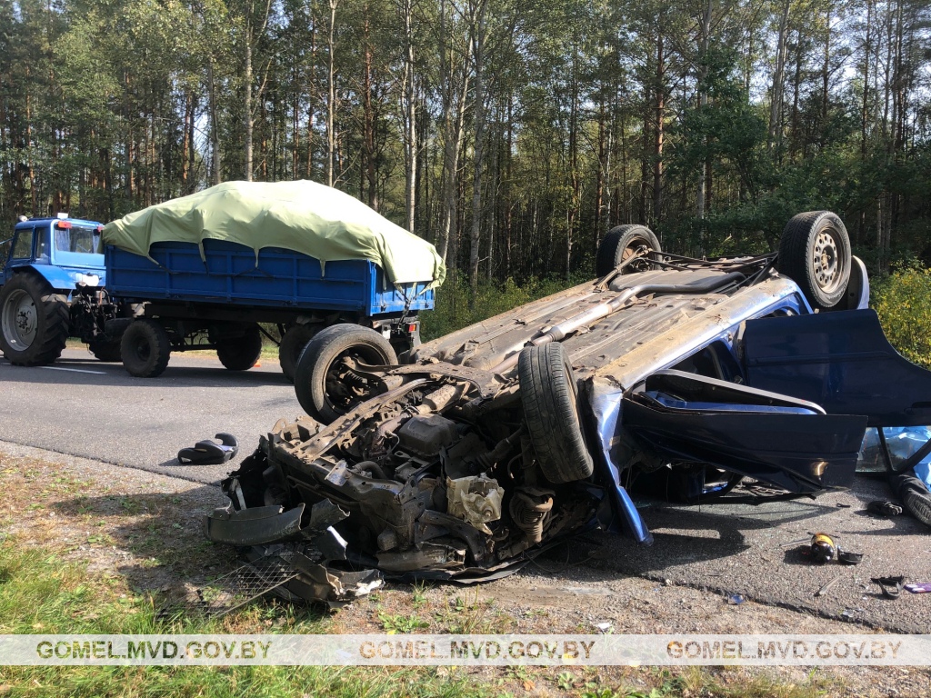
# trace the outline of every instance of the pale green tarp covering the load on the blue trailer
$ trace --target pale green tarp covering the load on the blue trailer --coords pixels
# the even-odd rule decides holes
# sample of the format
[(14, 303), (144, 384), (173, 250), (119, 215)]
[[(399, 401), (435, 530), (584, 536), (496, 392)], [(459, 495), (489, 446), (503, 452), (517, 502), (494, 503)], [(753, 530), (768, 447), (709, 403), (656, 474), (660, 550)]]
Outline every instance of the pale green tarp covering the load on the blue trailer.
[(156, 242), (228, 240), (255, 250), (286, 248), (321, 263), (371, 260), (395, 284), (446, 275), (436, 248), (358, 199), (314, 181), (226, 181), (103, 226), (103, 243), (149, 256)]

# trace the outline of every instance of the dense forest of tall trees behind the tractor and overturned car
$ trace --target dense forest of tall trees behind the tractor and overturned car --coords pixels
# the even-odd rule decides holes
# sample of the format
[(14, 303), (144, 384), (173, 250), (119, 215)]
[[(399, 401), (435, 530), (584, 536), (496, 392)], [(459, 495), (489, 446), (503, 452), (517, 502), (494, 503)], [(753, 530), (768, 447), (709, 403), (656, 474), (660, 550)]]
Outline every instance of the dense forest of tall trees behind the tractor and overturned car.
[[(15, 0), (0, 222), (107, 221), (229, 179), (357, 195), (479, 279), (773, 248), (840, 213), (931, 262), (925, 0)], [(456, 282), (462, 283), (462, 282)]]

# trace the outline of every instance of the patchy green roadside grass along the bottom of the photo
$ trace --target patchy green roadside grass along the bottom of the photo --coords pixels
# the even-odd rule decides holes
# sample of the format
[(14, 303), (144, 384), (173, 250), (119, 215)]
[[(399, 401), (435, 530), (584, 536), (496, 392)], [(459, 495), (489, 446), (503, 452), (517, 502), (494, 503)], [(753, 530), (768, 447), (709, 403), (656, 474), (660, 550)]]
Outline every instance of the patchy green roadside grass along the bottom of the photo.
[[(423, 596), (423, 589), (415, 591)], [(455, 606), (451, 612), (468, 615), (479, 603), (467, 595), (457, 597)], [(156, 616), (158, 607), (152, 597), (129, 589), (123, 577), (88, 572), (83, 565), (40, 547), (18, 544), (15, 538), (0, 542), (0, 634), (313, 634), (328, 632), (333, 623), (329, 614), (272, 601), (212, 621), (180, 613), (161, 620)], [(408, 632), (423, 626), (415, 615), (379, 615), (389, 631)], [(479, 632), (493, 632), (493, 628)], [(492, 698), (558, 692), (585, 698), (815, 698), (844, 694), (843, 685), (814, 672), (796, 684), (734, 672), (598, 666), (510, 666), (484, 672), (445, 666), (0, 666), (0, 695)], [(631, 678), (637, 679), (637, 688)]]

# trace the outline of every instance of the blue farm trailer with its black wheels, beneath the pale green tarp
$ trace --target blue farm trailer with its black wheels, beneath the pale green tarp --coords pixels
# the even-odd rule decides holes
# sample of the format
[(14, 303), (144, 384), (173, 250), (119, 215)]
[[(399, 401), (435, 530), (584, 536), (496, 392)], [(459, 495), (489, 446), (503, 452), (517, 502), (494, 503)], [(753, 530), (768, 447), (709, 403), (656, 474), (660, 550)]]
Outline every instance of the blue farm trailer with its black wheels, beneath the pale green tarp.
[(149, 257), (107, 245), (104, 257), (111, 297), (133, 309), (131, 320), (107, 327), (122, 335), (123, 365), (140, 377), (159, 375), (170, 352), (190, 349), (215, 349), (227, 369), (250, 369), (268, 324), (277, 326), (278, 358), (290, 380), (304, 347), (334, 325), (346, 326), (333, 330), (341, 336), (371, 344), (369, 363), (396, 363), (420, 343), (417, 313), (434, 304), (430, 280), (389, 284), (369, 260), (321, 264), (290, 249), (256, 254), (213, 239), (158, 242)]

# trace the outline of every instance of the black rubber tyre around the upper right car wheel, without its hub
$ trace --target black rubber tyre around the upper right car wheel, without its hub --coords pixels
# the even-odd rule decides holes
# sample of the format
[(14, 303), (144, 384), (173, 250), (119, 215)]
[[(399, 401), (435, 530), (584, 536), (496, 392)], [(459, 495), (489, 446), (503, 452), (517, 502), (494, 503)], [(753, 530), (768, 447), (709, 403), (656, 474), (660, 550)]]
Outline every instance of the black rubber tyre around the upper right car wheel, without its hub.
[[(836, 281), (822, 288), (813, 266), (818, 235), (830, 232), (837, 247), (839, 265)], [(830, 211), (808, 211), (794, 216), (782, 231), (779, 240), (779, 257), (776, 266), (780, 274), (789, 276), (805, 295), (812, 308), (830, 310), (843, 307), (851, 268), (850, 236), (843, 221)], [(839, 305), (840, 304), (840, 305)]]

